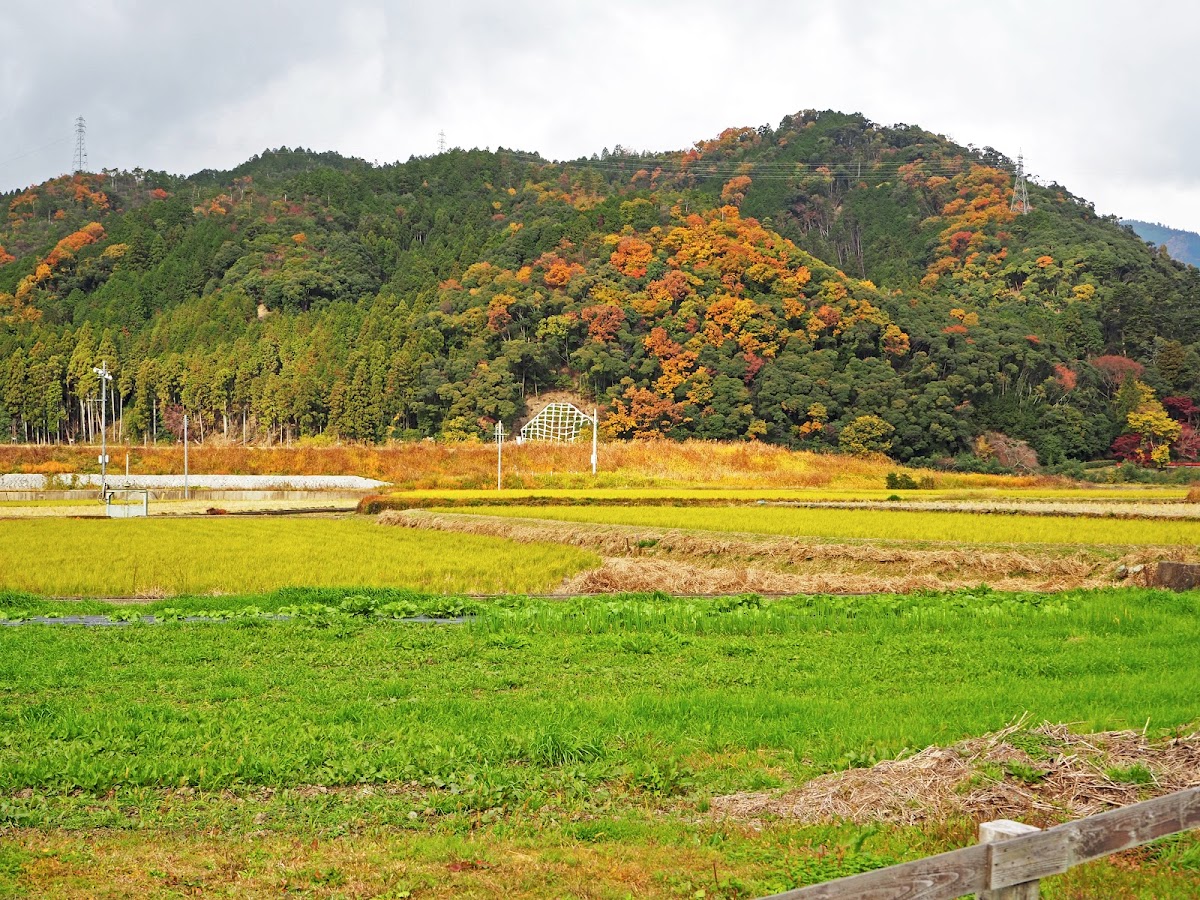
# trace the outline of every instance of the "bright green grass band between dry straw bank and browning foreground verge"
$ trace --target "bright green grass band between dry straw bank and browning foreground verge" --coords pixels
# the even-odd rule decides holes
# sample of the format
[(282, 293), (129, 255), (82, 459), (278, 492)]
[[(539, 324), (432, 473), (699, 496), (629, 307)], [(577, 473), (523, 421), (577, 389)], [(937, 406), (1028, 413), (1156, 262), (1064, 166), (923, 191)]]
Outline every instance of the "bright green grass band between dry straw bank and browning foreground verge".
[(1025, 710), (1170, 727), (1198, 713), (1198, 613), (1151, 592), (634, 595), (488, 604), (458, 628), (5, 629), (0, 788), (613, 778), (730, 750), (803, 776)]

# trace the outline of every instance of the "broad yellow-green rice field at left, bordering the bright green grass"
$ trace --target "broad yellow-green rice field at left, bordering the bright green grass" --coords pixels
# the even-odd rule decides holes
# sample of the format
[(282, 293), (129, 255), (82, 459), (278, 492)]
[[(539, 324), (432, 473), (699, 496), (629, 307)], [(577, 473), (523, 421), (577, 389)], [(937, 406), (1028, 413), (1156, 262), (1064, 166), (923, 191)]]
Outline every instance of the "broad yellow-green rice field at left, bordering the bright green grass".
[(598, 562), (570, 547), (378, 528), (362, 517), (0, 521), (0, 589), (60, 596), (289, 586), (533, 593)]

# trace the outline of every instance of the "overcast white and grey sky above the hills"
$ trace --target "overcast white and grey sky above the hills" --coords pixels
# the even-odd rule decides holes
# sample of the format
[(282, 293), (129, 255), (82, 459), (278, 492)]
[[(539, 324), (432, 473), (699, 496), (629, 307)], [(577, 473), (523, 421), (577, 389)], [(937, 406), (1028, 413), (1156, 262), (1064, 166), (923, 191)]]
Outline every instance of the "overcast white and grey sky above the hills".
[(991, 145), (1097, 210), (1200, 232), (1189, 0), (4, 0), (0, 190), (265, 148), (390, 162), (690, 146), (800, 109)]

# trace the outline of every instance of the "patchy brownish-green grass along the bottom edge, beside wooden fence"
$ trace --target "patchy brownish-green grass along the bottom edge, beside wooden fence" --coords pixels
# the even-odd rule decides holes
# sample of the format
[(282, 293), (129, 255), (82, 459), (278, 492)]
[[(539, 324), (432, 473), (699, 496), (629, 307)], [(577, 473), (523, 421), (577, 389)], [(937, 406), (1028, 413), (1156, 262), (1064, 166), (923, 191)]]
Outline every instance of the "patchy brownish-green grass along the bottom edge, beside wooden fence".
[[(580, 816), (564, 808), (482, 821), (380, 796), (292, 791), (90, 805), (107, 812), (103, 828), (0, 836), (0, 896), (732, 900), (973, 841), (968, 823), (748, 828), (661, 810)], [(1184, 838), (1074, 869), (1043, 882), (1042, 895), (1192, 900), (1198, 868), (1200, 842)]]

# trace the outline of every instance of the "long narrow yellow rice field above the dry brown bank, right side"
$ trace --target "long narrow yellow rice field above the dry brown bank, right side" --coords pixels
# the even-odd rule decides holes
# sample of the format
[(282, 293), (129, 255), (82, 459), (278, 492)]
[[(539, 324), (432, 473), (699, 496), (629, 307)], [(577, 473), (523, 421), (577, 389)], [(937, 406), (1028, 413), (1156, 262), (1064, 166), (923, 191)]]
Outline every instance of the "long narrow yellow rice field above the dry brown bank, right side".
[[(472, 512), (456, 506), (444, 511)], [(791, 506), (487, 506), (481, 515), (805, 538), (1195, 546), (1200, 522)]]

